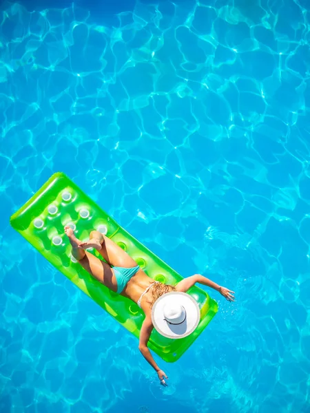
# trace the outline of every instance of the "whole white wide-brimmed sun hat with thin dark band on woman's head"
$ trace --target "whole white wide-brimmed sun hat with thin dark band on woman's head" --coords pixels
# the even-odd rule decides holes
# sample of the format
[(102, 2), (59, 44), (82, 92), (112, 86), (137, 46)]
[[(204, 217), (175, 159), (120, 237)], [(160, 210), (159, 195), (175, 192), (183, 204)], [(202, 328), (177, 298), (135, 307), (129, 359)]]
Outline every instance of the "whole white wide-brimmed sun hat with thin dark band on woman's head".
[(187, 337), (196, 329), (199, 321), (197, 301), (186, 293), (166, 293), (156, 299), (152, 308), (154, 328), (169, 339)]

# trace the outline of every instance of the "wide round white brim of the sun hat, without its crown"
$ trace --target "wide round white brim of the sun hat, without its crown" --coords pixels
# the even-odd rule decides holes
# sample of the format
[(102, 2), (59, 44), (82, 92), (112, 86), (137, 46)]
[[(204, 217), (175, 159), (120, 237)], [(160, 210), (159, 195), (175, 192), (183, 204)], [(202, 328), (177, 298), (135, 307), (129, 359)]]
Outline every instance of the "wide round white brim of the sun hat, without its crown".
[[(183, 306), (186, 311), (186, 319), (183, 323), (175, 325), (165, 321), (163, 308), (167, 303)], [(182, 339), (196, 330), (200, 321), (200, 309), (197, 301), (186, 293), (172, 291), (159, 297), (152, 308), (152, 322), (159, 334), (169, 339)]]

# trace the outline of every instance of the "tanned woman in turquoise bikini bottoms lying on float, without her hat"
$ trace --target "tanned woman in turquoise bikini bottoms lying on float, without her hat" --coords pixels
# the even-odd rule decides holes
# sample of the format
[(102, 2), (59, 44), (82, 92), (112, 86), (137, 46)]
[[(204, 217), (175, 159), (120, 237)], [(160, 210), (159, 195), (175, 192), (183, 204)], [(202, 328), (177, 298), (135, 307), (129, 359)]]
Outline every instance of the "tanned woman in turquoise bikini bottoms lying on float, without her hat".
[[(228, 290), (228, 288), (218, 286), (218, 284), (199, 274), (183, 279), (176, 284), (176, 286), (169, 286), (160, 282), (154, 282), (154, 279), (148, 277), (130, 257), (130, 255), (128, 255), (120, 246), (115, 244), (115, 242), (99, 231), (92, 231), (90, 233), (90, 240), (87, 242), (81, 242), (78, 240), (70, 226), (65, 226), (65, 233), (68, 235), (70, 244), (72, 245), (72, 256), (79, 261), (81, 266), (83, 266), (88, 273), (115, 293), (132, 299), (132, 301), (138, 304), (138, 306), (144, 311), (145, 320), (143, 321), (143, 325), (141, 327), (139, 350), (154, 370), (156, 370), (161, 384), (166, 385), (165, 379), (167, 379), (167, 376), (165, 372), (157, 366), (151, 352), (149, 352), (149, 349), (147, 348), (147, 341), (149, 340), (149, 336), (154, 328), (154, 317), (152, 317), (152, 308), (154, 304), (161, 301), (165, 293), (186, 293), (186, 291), (194, 286), (196, 282), (203, 284), (204, 286), (214, 288), (214, 290), (219, 291), (220, 294), (222, 294), (228, 301), (234, 301), (234, 292)], [(85, 251), (87, 248), (95, 248), (103, 256), (106, 262), (99, 260), (99, 258)], [(111, 266), (113, 266), (113, 268)], [(189, 297), (189, 295), (186, 296)], [(190, 303), (189, 306), (191, 306)], [(182, 314), (177, 315), (173, 310), (169, 315), (171, 319), (178, 316), (183, 317)], [(174, 324), (169, 321), (167, 321), (167, 323), (171, 325)], [(190, 323), (190, 321), (188, 321), (188, 323)], [(181, 323), (175, 324), (179, 325)], [(192, 327), (195, 328), (194, 324)], [(190, 332), (187, 331), (186, 335), (189, 333)], [(162, 332), (162, 334), (165, 335), (165, 332)], [(178, 331), (175, 331), (174, 337), (180, 338), (181, 335), (178, 335)], [(182, 335), (182, 337), (185, 337), (185, 335)]]

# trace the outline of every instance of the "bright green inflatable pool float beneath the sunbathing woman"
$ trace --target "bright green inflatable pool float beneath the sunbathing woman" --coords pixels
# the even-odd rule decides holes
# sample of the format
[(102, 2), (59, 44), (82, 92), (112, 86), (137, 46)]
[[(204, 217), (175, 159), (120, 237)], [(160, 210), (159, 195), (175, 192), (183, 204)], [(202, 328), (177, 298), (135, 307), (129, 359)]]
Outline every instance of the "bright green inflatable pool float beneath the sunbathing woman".
[[(12, 227), (63, 275), (136, 337), (140, 335), (143, 311), (130, 299), (113, 293), (96, 281), (74, 260), (63, 227), (68, 224), (76, 227), (80, 240), (87, 240), (92, 229), (105, 233), (156, 281), (176, 284), (182, 279), (176, 271), (119, 226), (63, 173), (55, 173), (45, 182), (43, 187), (12, 215), (10, 222)], [(97, 251), (94, 250), (93, 253), (101, 257)], [(172, 340), (159, 335), (154, 329), (149, 339), (149, 348), (168, 362), (180, 358), (218, 310), (216, 301), (201, 288), (194, 286), (188, 293), (196, 299), (200, 308), (200, 323), (192, 335)]]

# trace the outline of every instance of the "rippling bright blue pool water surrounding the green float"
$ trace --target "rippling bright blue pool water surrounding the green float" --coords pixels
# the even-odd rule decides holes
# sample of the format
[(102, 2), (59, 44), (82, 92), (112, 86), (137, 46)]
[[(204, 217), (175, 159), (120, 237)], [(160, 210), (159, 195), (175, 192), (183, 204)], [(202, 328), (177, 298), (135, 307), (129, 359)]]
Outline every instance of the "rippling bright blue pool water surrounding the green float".
[[(98, 3), (1, 2), (0, 412), (310, 412), (309, 1)], [(236, 292), (168, 388), (10, 228), (56, 171)]]

